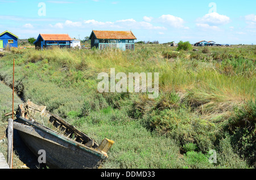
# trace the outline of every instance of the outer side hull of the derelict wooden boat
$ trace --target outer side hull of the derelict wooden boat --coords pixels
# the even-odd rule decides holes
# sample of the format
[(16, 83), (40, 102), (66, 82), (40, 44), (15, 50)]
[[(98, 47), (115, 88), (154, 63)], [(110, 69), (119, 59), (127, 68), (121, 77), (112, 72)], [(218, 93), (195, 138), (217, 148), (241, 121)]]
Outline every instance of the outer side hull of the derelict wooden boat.
[(39, 151), (44, 150), (49, 168), (98, 168), (106, 158), (92, 148), (81, 147), (80, 144), (65, 139), (64, 136), (53, 134), (47, 128), (40, 130), (19, 122), (14, 122), (14, 128), (18, 130), (23, 142), (36, 156), (42, 157)]

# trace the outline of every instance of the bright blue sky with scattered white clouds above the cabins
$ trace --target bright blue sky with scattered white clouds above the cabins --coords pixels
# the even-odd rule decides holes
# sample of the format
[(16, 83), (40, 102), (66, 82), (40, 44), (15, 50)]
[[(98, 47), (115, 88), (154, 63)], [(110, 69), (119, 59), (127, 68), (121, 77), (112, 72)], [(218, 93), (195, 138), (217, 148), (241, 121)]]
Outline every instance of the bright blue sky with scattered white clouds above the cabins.
[(255, 0), (0, 0), (0, 33), (132, 31), (137, 41), (256, 44)]

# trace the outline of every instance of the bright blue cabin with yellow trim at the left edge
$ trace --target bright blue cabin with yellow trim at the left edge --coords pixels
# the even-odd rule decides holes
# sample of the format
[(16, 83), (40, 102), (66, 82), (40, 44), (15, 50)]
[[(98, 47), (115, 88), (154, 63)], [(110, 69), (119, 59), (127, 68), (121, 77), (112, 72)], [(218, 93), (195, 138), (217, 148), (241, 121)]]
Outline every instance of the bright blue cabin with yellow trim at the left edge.
[(0, 34), (0, 48), (6, 48), (7, 46), (18, 48), (18, 36), (9, 31), (5, 31)]

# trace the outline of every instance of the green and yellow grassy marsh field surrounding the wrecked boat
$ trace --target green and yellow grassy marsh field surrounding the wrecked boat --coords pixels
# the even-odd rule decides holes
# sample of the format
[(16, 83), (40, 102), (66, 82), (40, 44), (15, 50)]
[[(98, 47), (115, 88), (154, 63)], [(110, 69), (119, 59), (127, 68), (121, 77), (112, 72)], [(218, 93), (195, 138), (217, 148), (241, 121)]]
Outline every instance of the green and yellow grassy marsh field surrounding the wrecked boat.
[[(12, 83), (15, 58), (20, 97), (46, 105), (97, 142), (114, 140), (103, 168), (255, 168), (256, 47), (196, 49), (13, 49), (0, 54), (0, 77)], [(110, 68), (159, 72), (159, 97), (97, 92), (97, 75)], [(0, 95), (0, 109), (10, 102)], [(216, 163), (209, 162), (211, 149)]]

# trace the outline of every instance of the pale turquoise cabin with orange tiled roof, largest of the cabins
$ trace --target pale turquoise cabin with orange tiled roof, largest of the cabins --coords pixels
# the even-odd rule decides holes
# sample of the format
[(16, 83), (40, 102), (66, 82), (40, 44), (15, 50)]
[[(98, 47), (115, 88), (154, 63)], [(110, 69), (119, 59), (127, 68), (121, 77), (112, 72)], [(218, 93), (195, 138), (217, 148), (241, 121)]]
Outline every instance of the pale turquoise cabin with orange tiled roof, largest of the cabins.
[(92, 31), (89, 39), (91, 48), (122, 50), (134, 50), (134, 40), (137, 40), (131, 31)]

